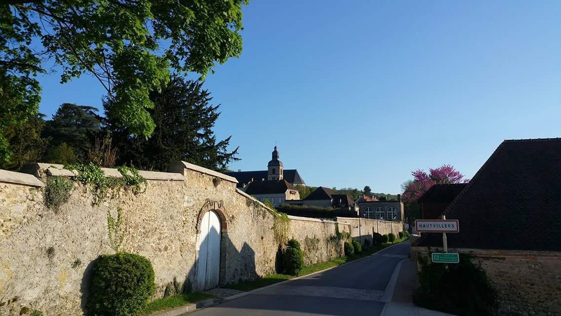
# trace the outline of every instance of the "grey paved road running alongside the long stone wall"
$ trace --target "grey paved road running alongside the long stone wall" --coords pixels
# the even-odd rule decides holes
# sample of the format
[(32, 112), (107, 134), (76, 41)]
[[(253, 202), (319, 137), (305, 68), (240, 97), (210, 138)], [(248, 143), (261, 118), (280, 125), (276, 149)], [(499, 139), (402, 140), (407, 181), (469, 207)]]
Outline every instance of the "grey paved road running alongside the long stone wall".
[(380, 315), (381, 301), (408, 242), (314, 276), (264, 288), (192, 315)]

